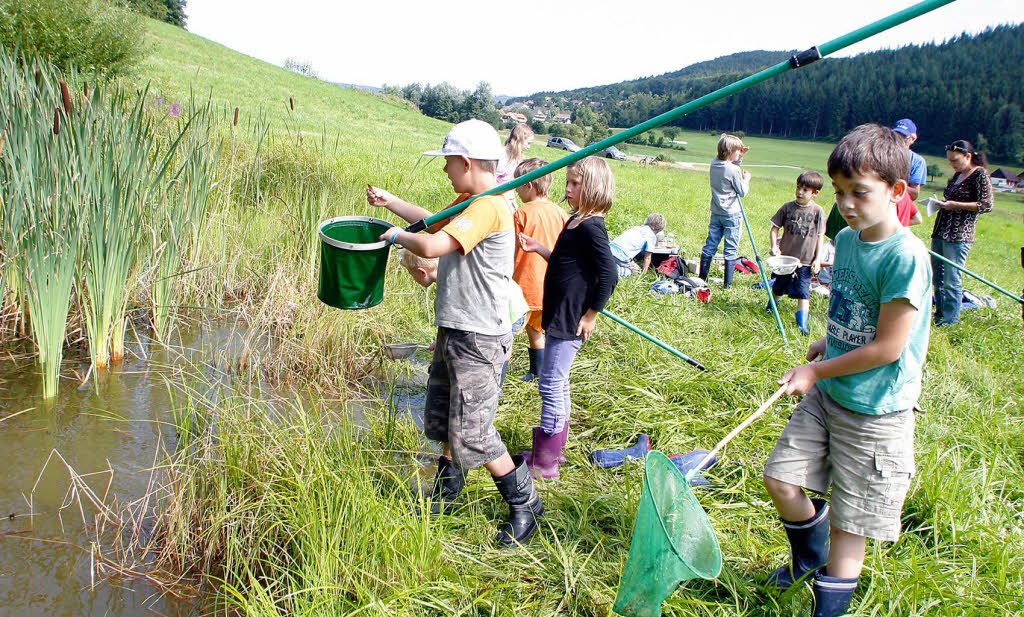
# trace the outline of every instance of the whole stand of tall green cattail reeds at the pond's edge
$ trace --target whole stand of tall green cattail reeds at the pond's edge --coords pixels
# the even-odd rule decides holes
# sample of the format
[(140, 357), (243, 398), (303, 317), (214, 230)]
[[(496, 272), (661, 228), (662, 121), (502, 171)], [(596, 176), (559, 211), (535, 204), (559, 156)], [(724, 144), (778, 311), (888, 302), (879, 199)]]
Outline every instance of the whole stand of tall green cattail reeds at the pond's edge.
[[(58, 75), (3, 48), (0, 69), (2, 284), (22, 329), (31, 324), (49, 397), (72, 307), (81, 308), (93, 365), (120, 361), (146, 268), (158, 271), (147, 291), (166, 337), (173, 278), (199, 245), (219, 143), (209, 102), (193, 101), (186, 120), (160, 121), (146, 89), (83, 84), (80, 96), (74, 71)], [(152, 246), (146, 229), (156, 230)]]

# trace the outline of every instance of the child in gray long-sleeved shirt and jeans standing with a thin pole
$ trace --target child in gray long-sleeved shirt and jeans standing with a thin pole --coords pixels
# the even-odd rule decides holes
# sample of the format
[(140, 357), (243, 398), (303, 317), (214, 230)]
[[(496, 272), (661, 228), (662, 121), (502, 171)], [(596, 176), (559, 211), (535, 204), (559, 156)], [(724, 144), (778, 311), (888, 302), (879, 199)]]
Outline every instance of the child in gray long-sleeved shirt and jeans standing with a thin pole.
[(711, 260), (724, 239), (726, 288), (732, 284), (739, 258), (739, 234), (743, 224), (739, 199), (751, 190), (751, 173), (739, 169), (739, 160), (750, 149), (739, 137), (723, 133), (718, 140), (718, 157), (711, 162), (711, 223), (708, 239), (700, 251), (700, 278), (708, 280)]

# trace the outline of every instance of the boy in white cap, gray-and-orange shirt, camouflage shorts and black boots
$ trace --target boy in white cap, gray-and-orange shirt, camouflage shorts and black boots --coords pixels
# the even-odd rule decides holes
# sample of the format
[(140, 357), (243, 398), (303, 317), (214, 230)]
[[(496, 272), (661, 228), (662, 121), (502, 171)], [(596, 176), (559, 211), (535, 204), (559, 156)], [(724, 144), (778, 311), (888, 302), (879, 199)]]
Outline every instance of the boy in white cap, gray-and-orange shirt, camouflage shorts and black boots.
[[(479, 120), (449, 131), (439, 150), (444, 173), (465, 202), (497, 186), (495, 170), (503, 147), (494, 127)], [(370, 186), (367, 201), (410, 223), (432, 213)], [(476, 199), (466, 210), (431, 227), (429, 233), (388, 229), (381, 239), (426, 258), (440, 258), (434, 300), (437, 339), (427, 380), (423, 429), (443, 454), (430, 492), (430, 512), (450, 514), (466, 485), (466, 472), (485, 467), (509, 504), (498, 533), (504, 546), (525, 542), (544, 514), (526, 464), (510, 456), (495, 430), (502, 365), (512, 346), (508, 292), (513, 284), (515, 234), (512, 212), (500, 194)]]

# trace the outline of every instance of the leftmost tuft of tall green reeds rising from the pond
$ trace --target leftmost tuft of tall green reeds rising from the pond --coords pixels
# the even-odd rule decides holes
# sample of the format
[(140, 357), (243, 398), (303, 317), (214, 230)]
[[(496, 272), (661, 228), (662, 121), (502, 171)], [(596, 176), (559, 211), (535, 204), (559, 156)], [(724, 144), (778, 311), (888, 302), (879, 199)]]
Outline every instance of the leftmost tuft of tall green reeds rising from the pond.
[[(59, 90), (42, 76), (43, 67), (0, 54), (3, 104), (0, 123), (8, 133), (0, 161), (4, 281), (24, 301), (43, 376), (43, 396), (57, 392), (68, 315), (81, 241), (79, 204), (83, 191), (74, 159), (74, 136)], [(33, 74), (36, 79), (33, 79)], [(65, 130), (49, 123), (51, 113)]]

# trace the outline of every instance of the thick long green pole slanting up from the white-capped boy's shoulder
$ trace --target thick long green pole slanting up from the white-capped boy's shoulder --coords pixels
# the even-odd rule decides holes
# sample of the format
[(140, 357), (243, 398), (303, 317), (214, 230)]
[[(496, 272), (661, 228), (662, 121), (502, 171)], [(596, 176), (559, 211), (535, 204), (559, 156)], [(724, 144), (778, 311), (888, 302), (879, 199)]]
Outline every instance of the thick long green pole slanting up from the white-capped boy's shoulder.
[(674, 109), (670, 109), (659, 116), (655, 116), (654, 118), (651, 118), (646, 122), (642, 122), (632, 128), (626, 129), (625, 131), (616, 133), (606, 139), (602, 139), (601, 141), (592, 143), (577, 152), (572, 152), (567, 157), (562, 157), (561, 159), (555, 161), (554, 163), (545, 165), (544, 167), (534, 170), (528, 174), (519, 176), (518, 178), (506, 182), (505, 184), (502, 184), (496, 188), (492, 188), (488, 191), (475, 195), (474, 197), (467, 200), (461, 204), (442, 210), (433, 216), (423, 219), (422, 221), (417, 221), (416, 223), (413, 223), (412, 225), (406, 227), (406, 231), (413, 231), (413, 232), (422, 231), (431, 225), (439, 223), (444, 219), (447, 219), (450, 217), (459, 214), (467, 207), (469, 207), (469, 205), (472, 204), (473, 201), (476, 200), (477, 197), (495, 193), (503, 193), (512, 190), (516, 186), (520, 186), (527, 182), (532, 182), (534, 180), (540, 178), (541, 176), (546, 176), (552, 172), (562, 169), (563, 167), (572, 165), (577, 161), (590, 157), (591, 155), (595, 155), (606, 147), (622, 143), (623, 141), (626, 141), (627, 139), (639, 135), (640, 133), (649, 131), (650, 129), (657, 128), (664, 124), (672, 122), (673, 120), (682, 118), (683, 116), (686, 116), (691, 112), (695, 112), (696, 109), (706, 107), (714, 102), (722, 100), (723, 98), (731, 96), (737, 92), (742, 92), (743, 90), (756, 86), (761, 82), (768, 81), (777, 75), (781, 75), (794, 69), (805, 67), (819, 58), (835, 53), (840, 49), (849, 47), (854, 43), (859, 43), (860, 41), (863, 41), (868, 37), (872, 37), (879, 34), (880, 32), (885, 32), (891, 28), (899, 26), (900, 24), (909, 21), (914, 17), (919, 17), (927, 12), (945, 6), (946, 4), (951, 4), (955, 0), (925, 0), (924, 2), (919, 2), (918, 4), (904, 8), (901, 11), (897, 11), (889, 15), (888, 17), (879, 19), (873, 24), (868, 24), (867, 26), (858, 28), (857, 30), (851, 33), (833, 39), (827, 43), (818, 45), (817, 47), (811, 47), (807, 51), (798, 53), (797, 55), (791, 57), (790, 59), (783, 60), (773, 67), (769, 67), (768, 69), (765, 69), (760, 73), (755, 73), (754, 75), (748, 76), (739, 81), (733, 82), (728, 86), (719, 88), (718, 90), (715, 90), (714, 92), (711, 92), (709, 94), (705, 94), (700, 98), (691, 100), (686, 104), (680, 105)]

